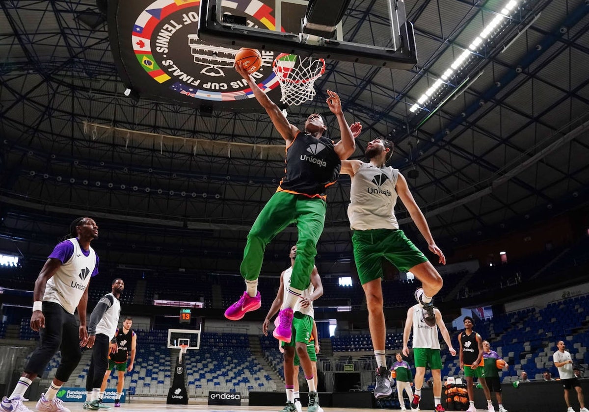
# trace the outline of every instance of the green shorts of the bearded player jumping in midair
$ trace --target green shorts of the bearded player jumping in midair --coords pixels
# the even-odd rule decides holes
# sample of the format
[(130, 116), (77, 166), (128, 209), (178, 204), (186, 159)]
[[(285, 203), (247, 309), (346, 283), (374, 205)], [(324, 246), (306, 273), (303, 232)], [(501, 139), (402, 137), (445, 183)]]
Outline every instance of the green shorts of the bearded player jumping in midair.
[(403, 272), (428, 261), (399, 229), (355, 230), (352, 244), (361, 284), (382, 278), (382, 258)]

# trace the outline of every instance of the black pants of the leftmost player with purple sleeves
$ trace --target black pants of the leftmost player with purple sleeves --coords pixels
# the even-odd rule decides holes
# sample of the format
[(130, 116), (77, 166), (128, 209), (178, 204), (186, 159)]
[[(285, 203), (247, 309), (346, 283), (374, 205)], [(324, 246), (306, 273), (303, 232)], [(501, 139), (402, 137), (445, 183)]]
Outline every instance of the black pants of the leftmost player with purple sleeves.
[(61, 350), (61, 363), (55, 372), (55, 378), (65, 382), (82, 357), (78, 321), (58, 303), (43, 302), (42, 312), (45, 316), (45, 327), (39, 330), (41, 342), (31, 354), (25, 372), (42, 376), (53, 355)]

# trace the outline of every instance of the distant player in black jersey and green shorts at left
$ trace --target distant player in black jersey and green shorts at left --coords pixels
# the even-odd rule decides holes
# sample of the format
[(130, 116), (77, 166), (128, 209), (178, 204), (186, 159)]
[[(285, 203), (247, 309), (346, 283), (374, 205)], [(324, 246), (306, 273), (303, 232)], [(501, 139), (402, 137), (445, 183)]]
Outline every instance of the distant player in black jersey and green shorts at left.
[(135, 362), (135, 349), (137, 348), (137, 335), (131, 329), (133, 326), (133, 318), (125, 317), (123, 327), (117, 328), (115, 333), (116, 342), (111, 343), (111, 351), (108, 357), (108, 370), (104, 374), (102, 385), (100, 387), (101, 393), (104, 392), (108, 385), (108, 377), (110, 377), (113, 368), (118, 371), (117, 380), (117, 397), (114, 400), (114, 406), (121, 406), (121, 396), (123, 396), (123, 388), (125, 387), (125, 372), (133, 370), (133, 363)]

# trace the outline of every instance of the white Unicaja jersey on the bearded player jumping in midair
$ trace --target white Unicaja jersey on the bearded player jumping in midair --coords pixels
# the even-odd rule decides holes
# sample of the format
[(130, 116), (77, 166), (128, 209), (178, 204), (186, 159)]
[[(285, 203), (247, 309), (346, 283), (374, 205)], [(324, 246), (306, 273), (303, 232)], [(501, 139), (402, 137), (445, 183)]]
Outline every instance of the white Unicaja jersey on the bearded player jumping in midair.
[(395, 217), (399, 170), (362, 162), (352, 178), (348, 218), (353, 230), (398, 229)]

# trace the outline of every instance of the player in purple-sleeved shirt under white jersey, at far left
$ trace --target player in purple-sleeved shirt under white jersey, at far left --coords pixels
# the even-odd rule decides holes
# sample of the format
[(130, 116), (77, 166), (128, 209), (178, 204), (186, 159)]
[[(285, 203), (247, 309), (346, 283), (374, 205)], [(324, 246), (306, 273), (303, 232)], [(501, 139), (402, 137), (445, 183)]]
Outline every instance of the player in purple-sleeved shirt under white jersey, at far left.
[[(0, 412), (27, 411), (22, 404), (25, 391), (59, 349), (61, 362), (51, 385), (37, 403), (40, 411), (64, 411), (57, 398), (59, 388), (78, 366), (81, 345), (86, 345), (88, 283), (98, 274), (98, 256), (90, 242), (98, 237), (98, 225), (88, 217), (77, 218), (70, 231), (51, 252), (35, 281), (31, 328), (41, 337), (11, 396), (0, 402)], [(80, 326), (74, 316), (78, 309)], [(79, 339), (78, 339), (79, 338)]]

